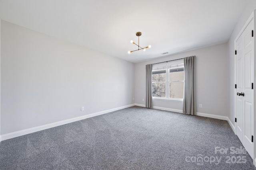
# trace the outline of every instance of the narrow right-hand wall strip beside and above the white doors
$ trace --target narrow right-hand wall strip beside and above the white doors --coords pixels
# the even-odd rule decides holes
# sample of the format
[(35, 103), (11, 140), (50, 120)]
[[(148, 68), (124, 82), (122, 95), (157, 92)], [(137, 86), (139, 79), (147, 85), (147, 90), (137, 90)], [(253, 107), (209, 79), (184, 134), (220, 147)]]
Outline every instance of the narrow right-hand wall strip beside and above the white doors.
[(236, 27), (234, 28), (232, 35), (230, 36), (230, 39), (228, 41), (228, 89), (229, 89), (229, 111), (228, 111), (228, 117), (230, 121), (235, 124), (235, 73), (234, 73), (234, 40), (236, 39), (238, 33), (244, 26), (245, 22), (248, 20), (249, 16), (252, 14), (253, 10), (256, 9), (256, 0), (249, 0), (248, 4), (244, 8), (242, 15), (240, 16)]

